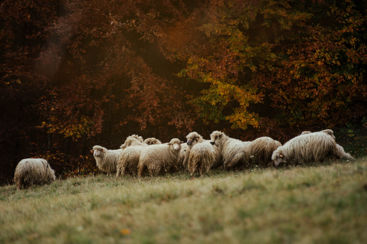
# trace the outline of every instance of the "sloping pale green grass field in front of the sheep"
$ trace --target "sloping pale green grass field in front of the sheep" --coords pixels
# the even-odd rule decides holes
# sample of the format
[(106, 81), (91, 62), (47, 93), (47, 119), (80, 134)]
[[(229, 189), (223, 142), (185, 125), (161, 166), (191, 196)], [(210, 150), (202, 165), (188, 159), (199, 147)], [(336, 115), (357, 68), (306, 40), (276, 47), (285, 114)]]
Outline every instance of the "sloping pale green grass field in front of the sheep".
[(367, 157), (0, 188), (0, 243), (367, 243)]

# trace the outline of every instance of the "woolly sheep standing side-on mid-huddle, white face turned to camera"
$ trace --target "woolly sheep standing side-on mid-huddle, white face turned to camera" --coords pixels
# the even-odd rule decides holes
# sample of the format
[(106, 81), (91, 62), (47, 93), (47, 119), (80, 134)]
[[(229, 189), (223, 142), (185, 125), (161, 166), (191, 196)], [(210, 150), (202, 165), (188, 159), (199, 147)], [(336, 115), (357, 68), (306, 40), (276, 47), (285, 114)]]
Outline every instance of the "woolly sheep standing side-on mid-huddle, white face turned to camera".
[(183, 141), (173, 138), (167, 144), (147, 146), (140, 153), (138, 176), (143, 176), (145, 168), (148, 169), (150, 176), (154, 176), (161, 168), (168, 168), (177, 163), (182, 143)]

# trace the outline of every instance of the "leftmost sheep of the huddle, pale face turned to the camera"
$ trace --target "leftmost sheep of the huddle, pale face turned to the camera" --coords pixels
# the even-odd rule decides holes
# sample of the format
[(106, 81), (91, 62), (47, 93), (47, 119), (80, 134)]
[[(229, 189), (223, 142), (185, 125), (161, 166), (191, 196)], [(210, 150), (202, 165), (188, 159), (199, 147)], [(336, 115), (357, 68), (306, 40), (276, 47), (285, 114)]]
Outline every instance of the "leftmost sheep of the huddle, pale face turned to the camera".
[(103, 146), (95, 145), (91, 152), (93, 153), (98, 169), (102, 172), (106, 172), (107, 175), (111, 175), (116, 172), (117, 160), (119, 160), (122, 150), (123, 149), (109, 150)]

